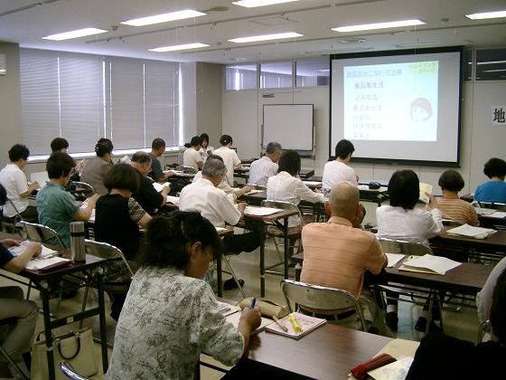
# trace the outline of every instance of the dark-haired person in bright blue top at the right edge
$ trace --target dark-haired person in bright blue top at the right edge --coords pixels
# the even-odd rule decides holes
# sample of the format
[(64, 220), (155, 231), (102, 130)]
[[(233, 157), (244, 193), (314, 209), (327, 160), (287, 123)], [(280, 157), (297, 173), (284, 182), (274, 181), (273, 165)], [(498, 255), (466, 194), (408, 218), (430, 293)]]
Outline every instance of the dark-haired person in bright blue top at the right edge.
[(483, 173), (491, 180), (476, 187), (474, 200), (506, 204), (506, 162), (501, 158), (491, 158), (483, 167)]

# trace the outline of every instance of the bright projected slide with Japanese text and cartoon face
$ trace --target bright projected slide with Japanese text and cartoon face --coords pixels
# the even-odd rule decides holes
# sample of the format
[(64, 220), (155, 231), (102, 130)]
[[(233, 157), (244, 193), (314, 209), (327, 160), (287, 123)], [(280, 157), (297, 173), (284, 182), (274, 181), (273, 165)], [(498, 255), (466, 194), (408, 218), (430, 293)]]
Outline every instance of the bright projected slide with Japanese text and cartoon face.
[(436, 141), (437, 77), (437, 61), (344, 67), (344, 138)]

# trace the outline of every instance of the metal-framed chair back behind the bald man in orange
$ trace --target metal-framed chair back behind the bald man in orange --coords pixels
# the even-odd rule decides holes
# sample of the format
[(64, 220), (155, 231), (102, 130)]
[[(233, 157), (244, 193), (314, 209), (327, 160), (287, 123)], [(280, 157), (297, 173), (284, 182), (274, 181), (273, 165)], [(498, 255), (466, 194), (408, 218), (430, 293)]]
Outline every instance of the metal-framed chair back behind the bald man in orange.
[[(363, 317), (360, 301), (347, 290), (311, 285), (294, 280), (282, 280), (281, 290), (283, 290), (290, 312), (297, 309), (296, 305), (320, 310), (348, 310), (352, 308), (355, 309), (355, 312), (361, 320), (361, 330), (366, 331), (365, 319)], [(294, 309), (292, 308), (291, 302), (295, 302)]]

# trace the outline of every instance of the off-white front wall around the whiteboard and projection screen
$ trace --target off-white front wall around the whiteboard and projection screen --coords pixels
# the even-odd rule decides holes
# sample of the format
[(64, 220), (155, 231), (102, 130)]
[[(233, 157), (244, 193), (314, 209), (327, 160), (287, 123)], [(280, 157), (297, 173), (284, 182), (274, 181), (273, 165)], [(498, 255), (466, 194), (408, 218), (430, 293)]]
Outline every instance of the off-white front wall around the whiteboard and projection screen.
[[(274, 94), (272, 99), (262, 95)], [(260, 127), (263, 104), (314, 103), (315, 160), (303, 160), (303, 167), (314, 167), (316, 175), (322, 175), (323, 165), (329, 157), (329, 88), (298, 88), (279, 90), (224, 91), (223, 133), (234, 138), (239, 157), (258, 157), (260, 153)], [(461, 115), (461, 167), (457, 170), (464, 176), (462, 194), (473, 191), (476, 185), (487, 178), (483, 175), (483, 164), (490, 157), (506, 159), (506, 128), (492, 126), (491, 106), (506, 103), (506, 81), (464, 82)], [(430, 152), (426, 152), (430, 157)], [(435, 186), (439, 194), (437, 179), (445, 167), (389, 166), (351, 163), (361, 178), (389, 179), (399, 168), (413, 169), (421, 182)]]

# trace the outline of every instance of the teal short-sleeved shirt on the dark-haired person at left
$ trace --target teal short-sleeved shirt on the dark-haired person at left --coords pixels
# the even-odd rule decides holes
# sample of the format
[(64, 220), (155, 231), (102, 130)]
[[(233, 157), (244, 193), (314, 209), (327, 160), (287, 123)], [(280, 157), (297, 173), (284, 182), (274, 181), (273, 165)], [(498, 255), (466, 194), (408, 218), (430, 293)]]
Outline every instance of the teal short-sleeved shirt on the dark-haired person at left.
[[(48, 182), (37, 194), (39, 222), (56, 231), (65, 245), (70, 248), (70, 222), (78, 212), (80, 204), (61, 185)], [(52, 244), (58, 245), (56, 240)]]

